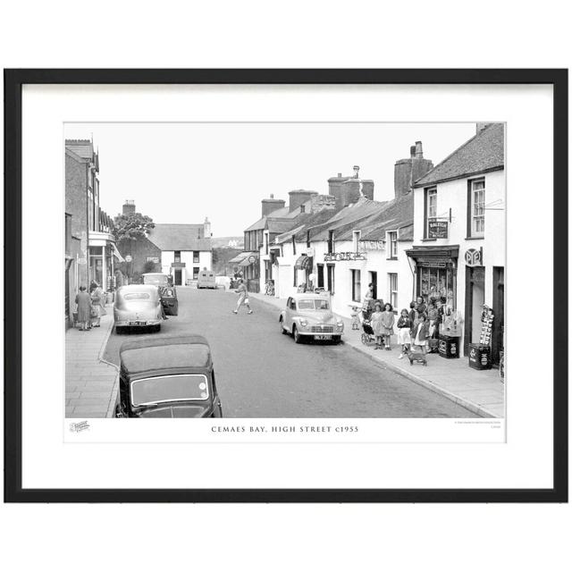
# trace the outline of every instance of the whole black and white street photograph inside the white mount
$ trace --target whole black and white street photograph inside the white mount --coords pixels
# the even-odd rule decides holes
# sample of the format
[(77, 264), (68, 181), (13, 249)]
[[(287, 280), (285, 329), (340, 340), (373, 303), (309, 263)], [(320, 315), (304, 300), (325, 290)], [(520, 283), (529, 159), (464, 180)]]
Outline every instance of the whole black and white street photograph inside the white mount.
[(66, 123), (66, 418), (504, 418), (505, 133)]

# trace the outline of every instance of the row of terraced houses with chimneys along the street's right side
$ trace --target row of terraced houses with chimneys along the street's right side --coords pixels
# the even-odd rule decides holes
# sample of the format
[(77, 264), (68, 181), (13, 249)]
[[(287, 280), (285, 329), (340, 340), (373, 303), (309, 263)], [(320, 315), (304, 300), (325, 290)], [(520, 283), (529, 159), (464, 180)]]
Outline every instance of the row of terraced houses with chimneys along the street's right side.
[(248, 290), (288, 298), (324, 288), (332, 309), (349, 316), (368, 284), (394, 311), (422, 297), (440, 299), (456, 318), (460, 352), (478, 343), (484, 305), (495, 315), (492, 360), (504, 350), (504, 125), (476, 133), (440, 164), (421, 141), (394, 166), (394, 198), (374, 199), (374, 181), (354, 173), (328, 179), (328, 193), (291, 190), (289, 204), (264, 198), (231, 263)]

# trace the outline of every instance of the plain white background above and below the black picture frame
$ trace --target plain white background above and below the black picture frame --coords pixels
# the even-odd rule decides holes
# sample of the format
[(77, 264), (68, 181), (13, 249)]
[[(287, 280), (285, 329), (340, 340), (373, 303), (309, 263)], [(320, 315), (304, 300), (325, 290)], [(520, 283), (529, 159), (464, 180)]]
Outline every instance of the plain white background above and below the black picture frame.
[[(266, 2), (171, 2), (157, 9), (100, 0), (94, 9), (21, 1), (3, 8), (0, 54), (4, 67), (568, 67), (564, 7), (555, 0), (518, 11), (493, 0), (478, 9), (458, 1), (292, 0), (287, 10)], [(479, 41), (483, 33), (492, 41)], [(343, 41), (333, 41), (336, 34)], [(138, 559), (139, 569), (181, 568), (188, 554), (172, 548), (184, 550), (189, 539), (201, 546), (193, 551), (194, 568), (551, 570), (569, 561), (572, 525), (569, 505), (543, 504), (0, 510), (4, 566), (62, 572), (119, 568), (125, 546), (141, 543), (155, 550)]]

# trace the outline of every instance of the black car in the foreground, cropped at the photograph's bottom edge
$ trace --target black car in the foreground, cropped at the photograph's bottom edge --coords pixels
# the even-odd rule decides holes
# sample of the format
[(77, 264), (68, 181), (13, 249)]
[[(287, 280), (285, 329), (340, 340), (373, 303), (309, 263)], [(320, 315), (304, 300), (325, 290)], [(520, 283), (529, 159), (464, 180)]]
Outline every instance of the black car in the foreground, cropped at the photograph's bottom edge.
[(116, 417), (222, 417), (211, 350), (199, 335), (126, 341)]

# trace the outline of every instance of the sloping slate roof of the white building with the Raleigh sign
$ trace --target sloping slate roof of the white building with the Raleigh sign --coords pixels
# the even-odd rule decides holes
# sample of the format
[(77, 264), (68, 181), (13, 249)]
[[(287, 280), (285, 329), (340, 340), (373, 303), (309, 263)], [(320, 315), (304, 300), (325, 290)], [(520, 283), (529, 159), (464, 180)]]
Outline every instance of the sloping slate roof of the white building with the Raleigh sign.
[(504, 168), (504, 123), (490, 123), (418, 179), (414, 187), (462, 179)]

